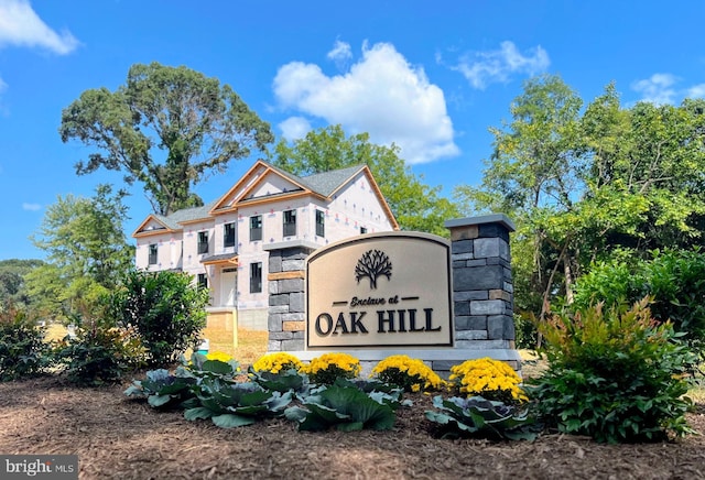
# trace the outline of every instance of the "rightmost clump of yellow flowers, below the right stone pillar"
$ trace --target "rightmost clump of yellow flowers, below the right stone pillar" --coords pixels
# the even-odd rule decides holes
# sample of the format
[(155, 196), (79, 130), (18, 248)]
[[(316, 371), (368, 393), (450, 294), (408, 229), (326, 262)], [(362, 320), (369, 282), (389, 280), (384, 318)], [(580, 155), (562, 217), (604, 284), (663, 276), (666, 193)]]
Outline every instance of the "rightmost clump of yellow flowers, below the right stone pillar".
[(521, 378), (503, 361), (481, 358), (451, 367), (451, 384), (467, 396), (481, 396), (507, 404), (527, 400)]

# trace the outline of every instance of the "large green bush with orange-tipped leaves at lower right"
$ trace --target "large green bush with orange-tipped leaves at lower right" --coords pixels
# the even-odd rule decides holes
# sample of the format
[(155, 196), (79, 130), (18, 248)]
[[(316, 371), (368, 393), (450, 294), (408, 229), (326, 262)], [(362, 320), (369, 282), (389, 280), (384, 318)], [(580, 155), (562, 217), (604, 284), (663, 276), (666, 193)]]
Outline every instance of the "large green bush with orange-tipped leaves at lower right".
[(604, 312), (598, 304), (540, 326), (549, 367), (527, 391), (547, 426), (607, 443), (692, 432), (684, 416), (692, 403), (683, 395), (695, 356), (647, 305)]

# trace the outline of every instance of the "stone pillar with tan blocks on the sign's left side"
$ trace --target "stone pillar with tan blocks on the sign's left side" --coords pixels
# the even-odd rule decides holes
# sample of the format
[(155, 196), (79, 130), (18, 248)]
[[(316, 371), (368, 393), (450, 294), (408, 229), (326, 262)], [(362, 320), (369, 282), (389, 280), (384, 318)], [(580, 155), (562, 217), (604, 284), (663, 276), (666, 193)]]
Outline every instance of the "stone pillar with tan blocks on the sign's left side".
[(297, 241), (264, 247), (264, 250), (269, 250), (268, 351), (305, 348), (306, 258), (316, 248), (315, 244)]

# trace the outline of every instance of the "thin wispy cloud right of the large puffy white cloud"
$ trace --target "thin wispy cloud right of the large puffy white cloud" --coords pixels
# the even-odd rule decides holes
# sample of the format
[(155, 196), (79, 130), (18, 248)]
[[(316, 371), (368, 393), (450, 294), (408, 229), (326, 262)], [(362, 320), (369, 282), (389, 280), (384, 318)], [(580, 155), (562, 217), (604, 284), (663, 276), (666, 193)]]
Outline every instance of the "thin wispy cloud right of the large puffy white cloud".
[[(436, 61), (441, 62), (438, 55)], [(485, 89), (489, 84), (509, 81), (512, 74), (543, 73), (550, 64), (549, 54), (541, 46), (529, 48), (522, 55), (512, 42), (505, 41), (499, 50), (463, 55), (451, 69), (462, 73), (474, 88)]]

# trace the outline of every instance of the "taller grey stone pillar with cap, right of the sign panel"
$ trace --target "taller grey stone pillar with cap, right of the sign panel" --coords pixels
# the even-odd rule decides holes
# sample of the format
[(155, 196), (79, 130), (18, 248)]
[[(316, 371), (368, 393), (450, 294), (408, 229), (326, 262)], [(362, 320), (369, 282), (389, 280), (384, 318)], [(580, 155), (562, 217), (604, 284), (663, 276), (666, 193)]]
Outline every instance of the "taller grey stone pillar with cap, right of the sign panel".
[(509, 233), (501, 214), (448, 220), (455, 348), (513, 349), (513, 286)]

